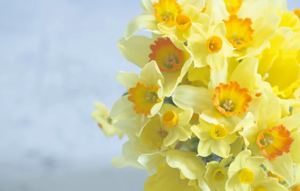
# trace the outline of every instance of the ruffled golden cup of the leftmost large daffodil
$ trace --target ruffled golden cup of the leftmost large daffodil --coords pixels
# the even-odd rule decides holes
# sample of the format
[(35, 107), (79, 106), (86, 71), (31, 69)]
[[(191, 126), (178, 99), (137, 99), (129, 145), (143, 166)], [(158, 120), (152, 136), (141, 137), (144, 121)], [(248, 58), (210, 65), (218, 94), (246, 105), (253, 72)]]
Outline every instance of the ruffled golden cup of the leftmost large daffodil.
[(152, 107), (162, 102), (157, 94), (158, 89), (158, 86), (145, 87), (143, 83), (137, 82), (136, 87), (128, 90), (128, 101), (134, 103), (133, 110), (136, 114), (149, 115)]

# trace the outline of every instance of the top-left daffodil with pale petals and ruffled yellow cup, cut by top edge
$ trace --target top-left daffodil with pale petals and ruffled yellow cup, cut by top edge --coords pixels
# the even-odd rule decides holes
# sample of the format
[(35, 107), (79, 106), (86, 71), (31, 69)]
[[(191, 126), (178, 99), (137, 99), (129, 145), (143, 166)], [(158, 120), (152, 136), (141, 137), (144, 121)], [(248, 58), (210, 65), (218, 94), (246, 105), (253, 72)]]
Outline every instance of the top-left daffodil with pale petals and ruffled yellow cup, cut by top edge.
[[(124, 33), (125, 39), (129, 39), (142, 28), (161, 33), (158, 28), (158, 24), (161, 23), (185, 28), (189, 25), (188, 22), (185, 23), (187, 18), (182, 17), (186, 6), (193, 6), (200, 12), (205, 6), (205, 1), (141, 0), (141, 7), (144, 13), (136, 16), (129, 22)], [(187, 9), (189, 10), (189, 8)], [(194, 15), (191, 16), (193, 17)], [(188, 19), (191, 20), (191, 18)]]

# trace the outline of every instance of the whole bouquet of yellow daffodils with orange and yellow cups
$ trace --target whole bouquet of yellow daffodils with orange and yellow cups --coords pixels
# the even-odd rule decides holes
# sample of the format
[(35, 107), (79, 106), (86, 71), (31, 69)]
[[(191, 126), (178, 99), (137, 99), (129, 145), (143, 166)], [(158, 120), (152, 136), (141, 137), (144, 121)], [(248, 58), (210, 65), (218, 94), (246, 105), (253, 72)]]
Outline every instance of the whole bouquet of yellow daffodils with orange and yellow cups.
[[(300, 190), (300, 10), (285, 0), (141, 0), (118, 42), (140, 74), (92, 114), (128, 137), (144, 190)], [(134, 35), (142, 28), (152, 38)]]

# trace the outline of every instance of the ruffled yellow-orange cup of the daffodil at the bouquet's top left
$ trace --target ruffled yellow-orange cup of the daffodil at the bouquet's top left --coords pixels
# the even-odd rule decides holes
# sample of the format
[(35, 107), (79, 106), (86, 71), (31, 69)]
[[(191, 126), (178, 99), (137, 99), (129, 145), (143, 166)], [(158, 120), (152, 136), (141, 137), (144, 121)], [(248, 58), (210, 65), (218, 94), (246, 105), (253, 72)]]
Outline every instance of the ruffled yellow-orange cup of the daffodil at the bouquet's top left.
[(160, 0), (153, 4), (155, 14), (153, 15), (158, 23), (165, 22), (169, 25), (174, 25), (175, 18), (182, 12), (181, 6), (177, 0)]

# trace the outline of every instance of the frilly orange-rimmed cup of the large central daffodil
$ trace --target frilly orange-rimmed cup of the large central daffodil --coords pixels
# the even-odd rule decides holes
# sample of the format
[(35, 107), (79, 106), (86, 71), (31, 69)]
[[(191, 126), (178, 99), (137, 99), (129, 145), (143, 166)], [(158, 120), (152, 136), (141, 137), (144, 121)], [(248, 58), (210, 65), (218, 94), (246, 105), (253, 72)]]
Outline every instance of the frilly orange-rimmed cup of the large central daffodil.
[(245, 113), (252, 98), (247, 88), (242, 88), (237, 81), (220, 83), (214, 88), (213, 104), (227, 117)]

